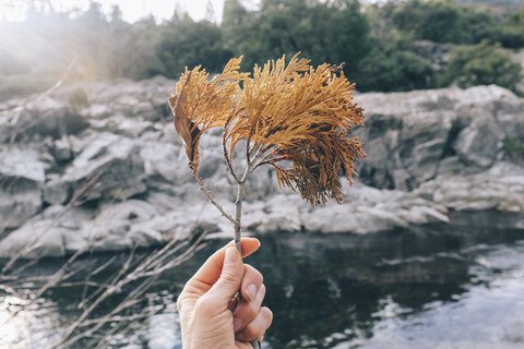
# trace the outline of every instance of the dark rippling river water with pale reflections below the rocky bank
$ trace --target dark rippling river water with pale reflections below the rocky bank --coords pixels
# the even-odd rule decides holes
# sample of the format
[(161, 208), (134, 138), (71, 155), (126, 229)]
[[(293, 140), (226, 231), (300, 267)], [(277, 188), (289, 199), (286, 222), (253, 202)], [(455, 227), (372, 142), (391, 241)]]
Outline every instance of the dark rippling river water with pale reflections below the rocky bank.
[[(509, 228), (523, 221), (469, 214), (448, 226), (367, 236), (264, 237), (247, 260), (264, 274), (274, 313), (263, 347), (524, 348), (524, 230)], [(108, 348), (180, 348), (176, 294), (223, 243), (167, 273), (133, 309), (145, 317), (116, 330)], [(45, 261), (33, 273), (60, 263)], [(28, 308), (0, 296), (0, 348), (56, 339), (79, 314), (74, 290), (52, 289)]]

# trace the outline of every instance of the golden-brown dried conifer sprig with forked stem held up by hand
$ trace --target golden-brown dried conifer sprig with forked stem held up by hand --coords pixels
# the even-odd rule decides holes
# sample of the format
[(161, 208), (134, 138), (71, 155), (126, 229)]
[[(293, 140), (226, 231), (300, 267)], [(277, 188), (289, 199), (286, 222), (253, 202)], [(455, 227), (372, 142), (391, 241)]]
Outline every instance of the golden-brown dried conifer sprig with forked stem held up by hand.
[[(238, 72), (240, 61), (231, 59), (211, 81), (201, 67), (186, 69), (169, 105), (192, 173), (234, 225), (241, 252), (245, 184), (259, 166), (274, 167), (279, 188), (298, 191), (311, 206), (324, 205), (329, 198), (342, 201), (342, 170), (352, 182), (355, 161), (366, 154), (362, 143), (348, 136), (353, 127), (364, 125), (364, 109), (353, 101), (355, 85), (344, 76), (343, 65), (313, 68), (297, 53), (287, 65), (285, 57), (263, 68), (255, 65), (250, 76)], [(211, 128), (223, 128), (224, 158), (237, 183), (234, 216), (214, 200), (198, 173), (199, 140)], [(246, 144), (242, 176), (231, 165), (240, 141)]]

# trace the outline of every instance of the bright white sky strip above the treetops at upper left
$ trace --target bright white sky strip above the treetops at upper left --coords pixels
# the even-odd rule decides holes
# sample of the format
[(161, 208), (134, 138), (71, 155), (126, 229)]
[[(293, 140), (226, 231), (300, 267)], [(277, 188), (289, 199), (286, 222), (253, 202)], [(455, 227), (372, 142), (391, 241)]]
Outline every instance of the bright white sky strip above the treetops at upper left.
[[(48, 0), (55, 10), (63, 11), (72, 8), (86, 9), (90, 0)], [(135, 22), (143, 16), (153, 14), (157, 20), (169, 19), (175, 12), (175, 8), (184, 9), (189, 15), (200, 21), (205, 17), (207, 3), (211, 2), (214, 10), (214, 22), (222, 19), (222, 10), (225, 0), (97, 0), (102, 3), (104, 12), (109, 13), (114, 4), (118, 4), (122, 10), (123, 20)], [(25, 13), (26, 1), (20, 0), (0, 0), (0, 19), (8, 21), (22, 21)], [(45, 2), (45, 1), (37, 1)]]

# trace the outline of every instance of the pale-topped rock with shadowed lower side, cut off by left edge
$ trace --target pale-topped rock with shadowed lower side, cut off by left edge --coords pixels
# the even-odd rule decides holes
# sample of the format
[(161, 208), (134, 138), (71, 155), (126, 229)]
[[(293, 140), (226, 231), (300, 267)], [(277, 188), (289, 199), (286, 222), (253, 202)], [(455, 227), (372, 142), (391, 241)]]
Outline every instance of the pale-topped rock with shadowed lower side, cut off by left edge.
[(0, 147), (0, 231), (20, 227), (41, 208), (44, 164), (35, 149)]

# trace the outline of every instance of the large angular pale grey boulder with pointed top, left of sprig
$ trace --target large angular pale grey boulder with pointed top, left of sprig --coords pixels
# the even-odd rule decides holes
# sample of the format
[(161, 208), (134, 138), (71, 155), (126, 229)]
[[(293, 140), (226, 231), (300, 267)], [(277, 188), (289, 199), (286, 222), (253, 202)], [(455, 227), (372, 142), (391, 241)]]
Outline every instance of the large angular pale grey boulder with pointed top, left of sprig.
[(133, 140), (111, 133), (90, 137), (88, 145), (66, 169), (62, 180), (73, 191), (86, 189), (83, 200), (126, 200), (146, 191), (140, 146)]

